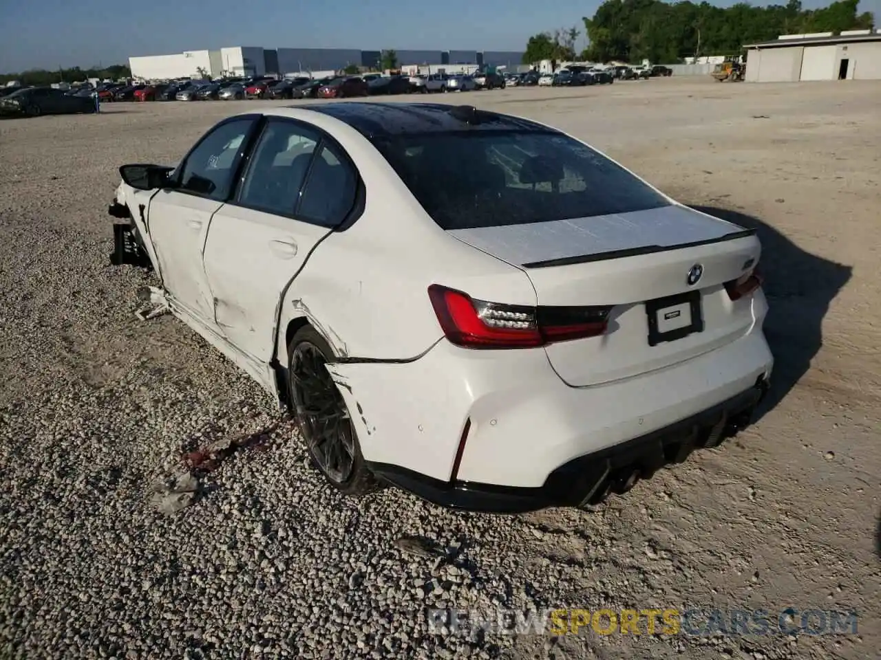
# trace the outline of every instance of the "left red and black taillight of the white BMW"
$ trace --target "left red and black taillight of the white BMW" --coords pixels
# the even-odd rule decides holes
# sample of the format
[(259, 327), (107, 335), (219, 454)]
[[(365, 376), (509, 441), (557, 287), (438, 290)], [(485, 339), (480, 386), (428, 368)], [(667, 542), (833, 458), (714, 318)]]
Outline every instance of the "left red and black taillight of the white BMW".
[(490, 303), (467, 293), (428, 287), (447, 339), (468, 348), (535, 348), (603, 334), (611, 306), (551, 307)]

